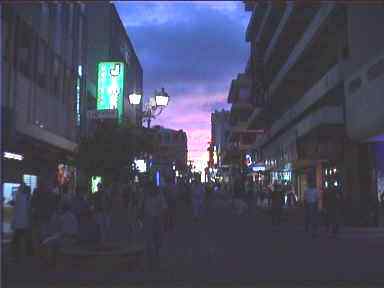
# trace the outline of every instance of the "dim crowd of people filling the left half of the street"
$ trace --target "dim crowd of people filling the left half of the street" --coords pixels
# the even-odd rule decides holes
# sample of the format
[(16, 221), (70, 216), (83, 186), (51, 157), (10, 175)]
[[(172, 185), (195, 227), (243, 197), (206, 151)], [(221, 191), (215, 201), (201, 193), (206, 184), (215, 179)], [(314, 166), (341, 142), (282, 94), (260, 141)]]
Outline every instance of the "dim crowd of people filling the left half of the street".
[(122, 228), (132, 235), (142, 232), (148, 268), (157, 267), (162, 235), (175, 230), (178, 201), (192, 204), (197, 220), (202, 216), (206, 195), (197, 181), (175, 184), (168, 178), (164, 182), (161, 187), (151, 179), (132, 184), (116, 181), (107, 187), (98, 183), (94, 193), (84, 187), (70, 192), (65, 187), (44, 184), (31, 193), (22, 183), (10, 203), (14, 206), (13, 259), (19, 262), (24, 255), (39, 254), (45, 264), (54, 266), (60, 249), (108, 245), (115, 223), (113, 215), (122, 211)]

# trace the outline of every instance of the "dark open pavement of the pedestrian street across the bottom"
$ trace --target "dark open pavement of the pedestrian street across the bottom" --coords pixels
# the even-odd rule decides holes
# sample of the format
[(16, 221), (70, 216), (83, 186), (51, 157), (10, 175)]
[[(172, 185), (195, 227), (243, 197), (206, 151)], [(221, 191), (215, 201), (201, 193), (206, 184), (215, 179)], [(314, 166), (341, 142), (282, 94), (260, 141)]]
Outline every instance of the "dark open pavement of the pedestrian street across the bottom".
[(291, 216), (297, 215), (296, 212), (284, 210), (284, 215), (283, 223), (276, 228), (271, 226), (269, 215), (259, 208), (237, 215), (227, 206), (211, 208), (195, 222), (190, 208), (182, 203), (176, 230), (164, 237), (161, 267), (157, 271), (128, 272), (118, 267), (115, 272), (113, 269), (47, 272), (35, 260), (28, 259), (20, 266), (3, 262), (6, 266), (3, 275), (9, 287), (28, 281), (36, 284), (358, 281), (384, 285), (384, 229), (343, 227), (337, 239), (330, 238), (322, 229), (319, 237), (313, 239), (305, 233), (301, 219)]

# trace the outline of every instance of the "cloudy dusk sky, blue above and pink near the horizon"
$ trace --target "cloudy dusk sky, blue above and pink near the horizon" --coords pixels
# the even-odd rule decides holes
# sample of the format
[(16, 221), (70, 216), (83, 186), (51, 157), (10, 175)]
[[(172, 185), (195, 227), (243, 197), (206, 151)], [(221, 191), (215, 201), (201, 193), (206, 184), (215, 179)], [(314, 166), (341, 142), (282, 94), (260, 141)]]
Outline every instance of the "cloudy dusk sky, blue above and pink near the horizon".
[[(229, 85), (249, 54), (250, 14), (241, 1), (115, 2), (144, 71), (144, 95), (164, 87), (171, 101), (153, 123), (183, 129), (189, 159), (202, 166), (210, 114), (228, 109)], [(200, 167), (199, 167), (200, 168)]]

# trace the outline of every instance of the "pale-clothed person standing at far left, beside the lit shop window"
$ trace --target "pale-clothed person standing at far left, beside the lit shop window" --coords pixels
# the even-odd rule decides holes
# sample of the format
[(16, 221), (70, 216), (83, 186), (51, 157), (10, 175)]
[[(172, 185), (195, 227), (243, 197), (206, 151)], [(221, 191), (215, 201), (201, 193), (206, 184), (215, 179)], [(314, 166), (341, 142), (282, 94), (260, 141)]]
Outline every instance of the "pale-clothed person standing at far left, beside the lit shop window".
[(33, 255), (31, 235), (31, 188), (22, 183), (16, 192), (14, 214), (12, 219), (13, 239), (12, 251), (16, 262), (20, 261), (21, 242), (25, 244), (25, 254)]

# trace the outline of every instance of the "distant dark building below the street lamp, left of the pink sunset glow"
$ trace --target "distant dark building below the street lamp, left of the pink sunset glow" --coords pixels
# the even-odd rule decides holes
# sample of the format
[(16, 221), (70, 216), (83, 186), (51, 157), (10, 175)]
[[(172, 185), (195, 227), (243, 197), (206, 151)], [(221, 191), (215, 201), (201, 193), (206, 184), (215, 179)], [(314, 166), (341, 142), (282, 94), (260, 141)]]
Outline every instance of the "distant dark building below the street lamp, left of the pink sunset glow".
[(154, 126), (152, 130), (159, 143), (158, 150), (152, 155), (152, 171), (160, 171), (163, 180), (181, 176), (187, 170), (187, 134), (183, 130), (161, 126)]

